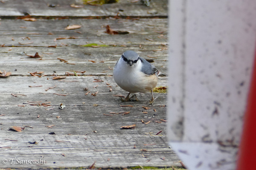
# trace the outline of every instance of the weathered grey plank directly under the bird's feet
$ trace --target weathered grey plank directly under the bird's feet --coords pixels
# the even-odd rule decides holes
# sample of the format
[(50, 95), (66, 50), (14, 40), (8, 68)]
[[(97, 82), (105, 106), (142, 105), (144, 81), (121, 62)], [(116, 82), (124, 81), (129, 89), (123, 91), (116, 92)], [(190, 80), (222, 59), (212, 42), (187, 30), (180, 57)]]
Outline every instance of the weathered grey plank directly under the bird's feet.
[[(48, 79), (49, 78), (49, 79)], [(104, 82), (93, 82), (94, 79), (101, 79)], [(146, 101), (150, 99), (151, 94), (137, 94), (138, 102), (125, 102), (119, 101), (119, 97), (113, 95), (124, 95), (128, 93), (116, 86), (113, 77), (94, 77), (94, 76), (81, 76), (81, 77), (67, 77), (66, 79), (52, 80), (52, 77), (20, 77), (11, 76), (5, 79), (0, 79), (2, 87), (0, 88), (0, 97), (4, 97), (5, 100), (1, 102), (1, 105), (24, 105), (27, 101), (44, 101), (51, 102), (51, 105), (58, 106), (61, 103), (65, 105), (145, 105)], [(15, 83), (14, 83), (15, 82)], [(109, 85), (111, 85), (112, 91), (109, 91)], [(29, 86), (42, 85), (42, 87), (29, 87)], [(56, 87), (55, 87), (56, 85)], [(93, 88), (96, 85), (97, 88)], [(167, 78), (160, 77), (158, 86), (166, 86)], [(45, 91), (49, 87), (55, 87)], [(84, 88), (88, 88), (90, 94), (84, 95), (87, 91)], [(96, 96), (92, 96), (92, 93), (99, 91)], [(23, 94), (17, 95), (17, 97), (11, 94)], [(58, 96), (55, 94), (68, 94), (67, 96)], [(166, 94), (155, 94), (159, 96), (155, 105), (166, 105)], [(45, 101), (47, 100), (47, 101)], [(85, 104), (82, 104), (85, 102)], [(29, 104), (25, 104), (29, 106)], [(41, 107), (43, 110), (45, 107)]]

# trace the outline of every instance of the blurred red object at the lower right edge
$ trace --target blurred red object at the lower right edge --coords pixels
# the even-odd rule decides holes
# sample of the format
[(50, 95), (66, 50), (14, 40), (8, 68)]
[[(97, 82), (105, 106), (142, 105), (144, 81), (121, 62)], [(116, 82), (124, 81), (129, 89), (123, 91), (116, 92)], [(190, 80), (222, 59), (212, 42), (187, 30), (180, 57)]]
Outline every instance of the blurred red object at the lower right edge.
[(236, 170), (256, 169), (256, 54)]

